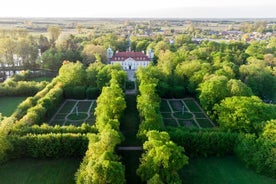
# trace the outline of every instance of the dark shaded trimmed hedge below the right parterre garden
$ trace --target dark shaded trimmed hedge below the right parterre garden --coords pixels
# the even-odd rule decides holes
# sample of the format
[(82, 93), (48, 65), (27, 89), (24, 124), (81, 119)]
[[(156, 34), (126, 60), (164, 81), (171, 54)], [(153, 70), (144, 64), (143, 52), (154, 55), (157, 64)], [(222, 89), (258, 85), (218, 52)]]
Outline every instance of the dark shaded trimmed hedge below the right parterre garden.
[(171, 140), (183, 146), (192, 158), (231, 155), (238, 136), (217, 129), (168, 128), (167, 132)]

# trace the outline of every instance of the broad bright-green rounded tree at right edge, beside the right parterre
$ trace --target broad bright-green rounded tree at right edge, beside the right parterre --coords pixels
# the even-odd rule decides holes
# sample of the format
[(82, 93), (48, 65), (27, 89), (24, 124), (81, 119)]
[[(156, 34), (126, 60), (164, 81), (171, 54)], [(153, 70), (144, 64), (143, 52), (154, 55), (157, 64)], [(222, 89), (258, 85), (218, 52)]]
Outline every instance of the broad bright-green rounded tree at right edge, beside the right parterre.
[(254, 133), (260, 123), (276, 118), (276, 106), (256, 96), (227, 97), (215, 105), (214, 111), (220, 127), (232, 132)]

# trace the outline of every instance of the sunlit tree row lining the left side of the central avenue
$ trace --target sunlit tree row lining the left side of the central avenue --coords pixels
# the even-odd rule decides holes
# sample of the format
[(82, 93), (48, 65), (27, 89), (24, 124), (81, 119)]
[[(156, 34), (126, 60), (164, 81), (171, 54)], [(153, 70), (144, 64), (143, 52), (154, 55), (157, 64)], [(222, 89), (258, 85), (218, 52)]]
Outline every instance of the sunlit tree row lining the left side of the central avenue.
[(89, 146), (76, 173), (77, 183), (125, 183), (125, 167), (115, 148), (122, 141), (119, 120), (126, 108), (124, 94), (112, 72), (110, 85), (102, 89), (95, 109), (97, 135), (88, 135)]

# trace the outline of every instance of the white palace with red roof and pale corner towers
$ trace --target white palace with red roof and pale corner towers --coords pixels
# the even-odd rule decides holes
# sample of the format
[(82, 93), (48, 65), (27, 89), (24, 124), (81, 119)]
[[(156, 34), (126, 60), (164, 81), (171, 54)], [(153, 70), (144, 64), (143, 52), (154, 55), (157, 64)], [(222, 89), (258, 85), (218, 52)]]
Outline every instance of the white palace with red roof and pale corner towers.
[(111, 48), (107, 49), (107, 58), (110, 64), (119, 63), (124, 70), (137, 70), (139, 66), (148, 66), (153, 59), (153, 51), (149, 49), (147, 53), (144, 52), (116, 52), (113, 53)]

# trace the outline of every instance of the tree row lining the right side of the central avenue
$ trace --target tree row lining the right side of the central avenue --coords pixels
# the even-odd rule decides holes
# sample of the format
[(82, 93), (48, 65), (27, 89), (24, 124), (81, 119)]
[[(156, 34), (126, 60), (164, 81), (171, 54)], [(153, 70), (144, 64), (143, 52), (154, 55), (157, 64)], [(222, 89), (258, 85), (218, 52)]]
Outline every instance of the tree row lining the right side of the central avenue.
[(136, 72), (139, 92), (137, 109), (141, 124), (137, 137), (144, 142), (141, 163), (137, 174), (148, 183), (182, 183), (178, 170), (188, 164), (184, 148), (170, 140), (163, 129), (160, 114), (160, 97), (157, 95), (158, 78), (151, 71), (153, 66), (139, 68)]

